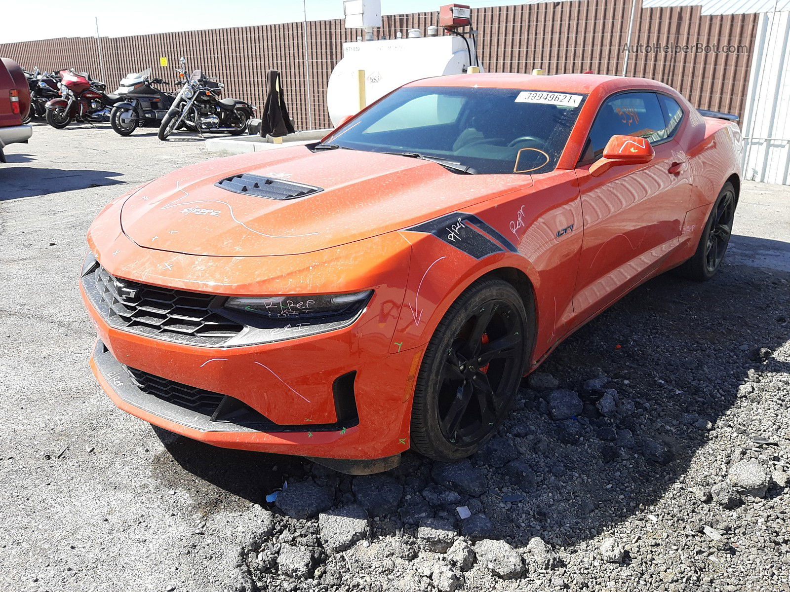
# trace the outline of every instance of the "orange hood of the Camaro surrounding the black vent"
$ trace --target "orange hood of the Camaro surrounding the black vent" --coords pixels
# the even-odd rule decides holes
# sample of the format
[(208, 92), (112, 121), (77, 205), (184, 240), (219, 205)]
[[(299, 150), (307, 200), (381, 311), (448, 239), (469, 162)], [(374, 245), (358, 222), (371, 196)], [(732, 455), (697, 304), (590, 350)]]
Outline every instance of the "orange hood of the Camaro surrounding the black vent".
[[(215, 185), (243, 173), (322, 190), (274, 200)], [(220, 257), (309, 253), (531, 185), (525, 174), (456, 174), (422, 159), (297, 146), (175, 170), (126, 199), (121, 225), (148, 249)]]

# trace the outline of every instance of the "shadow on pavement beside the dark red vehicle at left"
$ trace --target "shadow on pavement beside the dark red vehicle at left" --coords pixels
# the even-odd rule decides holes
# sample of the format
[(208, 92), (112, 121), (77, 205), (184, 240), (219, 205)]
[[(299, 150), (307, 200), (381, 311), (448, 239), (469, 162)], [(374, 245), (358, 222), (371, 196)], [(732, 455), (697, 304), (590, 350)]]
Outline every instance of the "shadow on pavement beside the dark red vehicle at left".
[[(13, 161), (13, 157), (19, 155), (7, 156), (9, 163), (0, 166), (0, 201), (123, 183), (121, 179), (115, 178), (121, 177), (122, 173), (115, 171), (20, 167), (14, 166)], [(27, 155), (22, 156), (24, 158)]]

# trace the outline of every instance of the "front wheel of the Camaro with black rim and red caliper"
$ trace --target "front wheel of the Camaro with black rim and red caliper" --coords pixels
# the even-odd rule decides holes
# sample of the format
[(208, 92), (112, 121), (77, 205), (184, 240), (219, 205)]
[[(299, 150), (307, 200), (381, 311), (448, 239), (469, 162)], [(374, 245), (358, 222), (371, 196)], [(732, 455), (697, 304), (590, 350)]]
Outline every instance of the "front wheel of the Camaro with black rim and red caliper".
[[(532, 311), (532, 303), (528, 312), (502, 279), (480, 279), (453, 302), (420, 365), (412, 404), (414, 450), (450, 463), (472, 455), (496, 433), (532, 351)], [(495, 343), (505, 347), (492, 350)]]

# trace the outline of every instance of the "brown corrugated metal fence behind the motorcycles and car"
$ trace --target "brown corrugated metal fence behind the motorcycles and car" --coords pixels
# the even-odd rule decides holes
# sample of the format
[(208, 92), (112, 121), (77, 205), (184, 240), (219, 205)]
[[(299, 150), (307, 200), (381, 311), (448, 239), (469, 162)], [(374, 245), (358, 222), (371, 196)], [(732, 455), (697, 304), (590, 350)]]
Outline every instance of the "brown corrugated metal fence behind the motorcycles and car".
[[(480, 62), (489, 72), (542, 68), (547, 73), (622, 74), (625, 67), (628, 75), (672, 85), (698, 107), (743, 114), (758, 15), (703, 16), (699, 6), (642, 9), (641, 0), (634, 2), (636, 6), (631, 0), (572, 0), (473, 9)], [(381, 34), (392, 38), (400, 31), (405, 36), (408, 28), (424, 33), (435, 22), (435, 13), (389, 15)], [(227, 84), (226, 96), (261, 107), (265, 71), (278, 69), (297, 128), (310, 127), (310, 119), (313, 127), (328, 127), (329, 74), (342, 57), (344, 41), (355, 40), (358, 33), (344, 28), (341, 20), (309, 21), (307, 59), (304, 33), (303, 23), (296, 22), (104, 37), (105, 77), (114, 87), (127, 72), (152, 66), (155, 76), (173, 81), (173, 68), (183, 56), (188, 69), (200, 67)], [(625, 51), (626, 44), (631, 51)], [(100, 77), (96, 39), (89, 37), (3, 43), (0, 54), (28, 69), (73, 66)], [(162, 57), (169, 67), (159, 66)]]

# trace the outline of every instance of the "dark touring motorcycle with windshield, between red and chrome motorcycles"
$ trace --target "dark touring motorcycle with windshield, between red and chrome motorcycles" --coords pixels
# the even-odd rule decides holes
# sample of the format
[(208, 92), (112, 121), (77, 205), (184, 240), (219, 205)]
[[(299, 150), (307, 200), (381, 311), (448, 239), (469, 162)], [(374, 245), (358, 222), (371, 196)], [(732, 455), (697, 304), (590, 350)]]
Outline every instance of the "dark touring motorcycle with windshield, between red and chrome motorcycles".
[(110, 125), (115, 133), (129, 136), (135, 129), (142, 126), (156, 126), (167, 115), (167, 110), (175, 100), (175, 94), (153, 88), (152, 84), (169, 84), (161, 78), (153, 78), (151, 69), (140, 73), (145, 84), (127, 92), (122, 103), (116, 103), (110, 114)]

